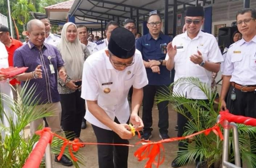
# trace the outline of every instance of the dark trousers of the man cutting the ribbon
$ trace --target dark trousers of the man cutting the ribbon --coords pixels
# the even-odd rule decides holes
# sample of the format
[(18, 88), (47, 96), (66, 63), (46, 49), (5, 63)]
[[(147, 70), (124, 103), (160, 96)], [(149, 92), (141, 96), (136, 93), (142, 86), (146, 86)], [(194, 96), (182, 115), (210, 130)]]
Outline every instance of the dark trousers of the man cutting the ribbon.
[[(114, 120), (119, 124), (119, 121)], [(128, 121), (129, 123), (129, 121)], [(116, 132), (92, 125), (98, 143), (129, 144), (120, 138)], [(99, 168), (128, 168), (128, 146), (97, 145)]]

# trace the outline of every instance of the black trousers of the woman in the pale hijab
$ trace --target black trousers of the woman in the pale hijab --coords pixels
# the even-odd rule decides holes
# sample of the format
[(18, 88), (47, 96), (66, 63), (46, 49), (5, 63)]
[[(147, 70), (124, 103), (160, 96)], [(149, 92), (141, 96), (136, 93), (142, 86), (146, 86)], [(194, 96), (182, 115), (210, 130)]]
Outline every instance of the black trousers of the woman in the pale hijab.
[[(81, 98), (81, 91), (70, 94), (60, 94), (62, 108), (62, 129), (69, 138), (80, 137), (82, 119), (85, 115), (85, 101)], [(69, 138), (74, 140), (74, 138)]]

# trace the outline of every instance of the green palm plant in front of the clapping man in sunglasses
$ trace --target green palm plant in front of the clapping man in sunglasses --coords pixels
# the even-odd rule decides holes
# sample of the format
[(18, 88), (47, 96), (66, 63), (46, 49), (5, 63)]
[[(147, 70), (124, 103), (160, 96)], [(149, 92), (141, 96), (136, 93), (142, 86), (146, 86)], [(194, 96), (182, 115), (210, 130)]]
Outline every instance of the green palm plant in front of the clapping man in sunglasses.
[[(156, 96), (157, 102), (170, 101), (173, 109), (182, 115), (185, 115), (185, 111), (179, 107), (183, 105), (187, 109), (190, 117), (188, 118), (184, 136), (214, 126), (218, 116), (218, 107), (214, 106), (217, 93), (212, 93), (211, 89), (209, 89), (205, 83), (200, 82), (199, 79), (194, 77), (181, 78), (172, 85), (182, 85), (181, 83), (200, 88), (207, 96), (209, 103), (206, 103), (206, 101), (186, 99), (186, 97), (172, 91), (171, 93), (159, 93)], [(256, 128), (238, 125), (238, 132), (242, 160), (246, 162), (248, 168), (255, 168), (256, 155), (250, 152), (250, 145), (254, 142), (248, 140), (248, 135), (255, 136)], [(230, 144), (232, 144), (232, 139), (232, 136), (230, 136)], [(197, 168), (221, 167), (222, 141), (216, 137), (216, 134), (210, 133), (207, 136), (205, 134), (199, 134), (194, 136), (192, 142), (190, 141), (190, 143), (188, 143), (188, 141), (184, 141), (184, 143), (187, 143), (188, 149), (180, 151), (180, 164), (184, 164), (187, 159), (189, 159), (189, 162), (194, 162), (194, 158), (199, 158), (200, 163), (197, 165)], [(234, 154), (230, 154), (230, 161), (232, 161), (233, 157)]]

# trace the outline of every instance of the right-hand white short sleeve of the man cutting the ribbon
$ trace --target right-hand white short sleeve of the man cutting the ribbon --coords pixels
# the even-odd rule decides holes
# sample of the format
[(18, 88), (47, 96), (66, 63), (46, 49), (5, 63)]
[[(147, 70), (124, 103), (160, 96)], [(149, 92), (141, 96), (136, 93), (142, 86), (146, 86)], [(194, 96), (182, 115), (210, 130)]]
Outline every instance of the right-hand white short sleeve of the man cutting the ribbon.
[(132, 86), (136, 89), (141, 89), (142, 87), (148, 85), (148, 77), (146, 73), (146, 69), (143, 64), (142, 55), (141, 53), (137, 53), (138, 57), (138, 69), (135, 73), (135, 80)]

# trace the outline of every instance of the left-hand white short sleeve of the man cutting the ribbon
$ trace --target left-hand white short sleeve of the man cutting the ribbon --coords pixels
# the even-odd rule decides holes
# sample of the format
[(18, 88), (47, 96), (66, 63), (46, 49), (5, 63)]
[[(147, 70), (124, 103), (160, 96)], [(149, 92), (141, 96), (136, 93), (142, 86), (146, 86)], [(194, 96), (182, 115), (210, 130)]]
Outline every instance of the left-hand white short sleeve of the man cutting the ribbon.
[(93, 66), (86, 60), (83, 68), (81, 97), (85, 100), (96, 101), (98, 100), (98, 95), (99, 85), (97, 77)]

